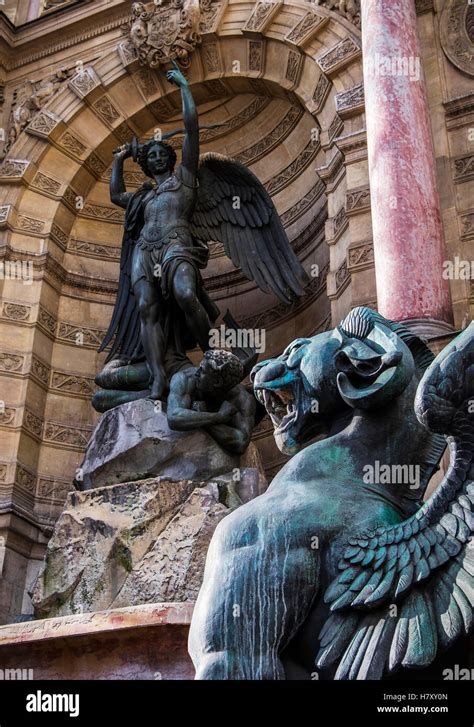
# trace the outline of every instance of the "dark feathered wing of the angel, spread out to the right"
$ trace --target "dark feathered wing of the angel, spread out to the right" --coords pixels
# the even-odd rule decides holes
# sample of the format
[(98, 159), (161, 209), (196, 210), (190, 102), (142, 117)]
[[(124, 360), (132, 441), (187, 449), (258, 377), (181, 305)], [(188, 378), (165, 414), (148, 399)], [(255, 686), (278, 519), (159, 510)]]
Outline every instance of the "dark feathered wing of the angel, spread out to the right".
[(224, 245), (226, 255), (265, 293), (291, 303), (304, 295), (308, 277), (262, 183), (243, 164), (205, 154), (191, 220), (194, 237)]

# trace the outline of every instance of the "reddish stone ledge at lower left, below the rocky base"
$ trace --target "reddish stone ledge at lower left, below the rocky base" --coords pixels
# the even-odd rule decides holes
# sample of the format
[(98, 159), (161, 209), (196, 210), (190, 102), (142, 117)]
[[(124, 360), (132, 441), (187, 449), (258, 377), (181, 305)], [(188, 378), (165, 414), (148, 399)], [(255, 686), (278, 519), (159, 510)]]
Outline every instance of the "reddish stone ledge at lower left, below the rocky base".
[[(193, 679), (193, 603), (159, 603), (0, 627), (5, 679)], [(6, 676), (7, 670), (14, 674)]]

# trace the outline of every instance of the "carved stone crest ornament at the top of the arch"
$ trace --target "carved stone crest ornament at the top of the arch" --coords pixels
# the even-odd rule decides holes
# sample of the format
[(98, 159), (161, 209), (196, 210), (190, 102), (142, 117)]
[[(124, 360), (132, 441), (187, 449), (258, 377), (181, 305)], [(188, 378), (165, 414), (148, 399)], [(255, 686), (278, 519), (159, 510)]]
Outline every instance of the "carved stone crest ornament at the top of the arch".
[(142, 65), (157, 68), (176, 60), (187, 67), (201, 42), (200, 19), (199, 0), (163, 0), (150, 10), (144, 3), (133, 3), (126, 32)]

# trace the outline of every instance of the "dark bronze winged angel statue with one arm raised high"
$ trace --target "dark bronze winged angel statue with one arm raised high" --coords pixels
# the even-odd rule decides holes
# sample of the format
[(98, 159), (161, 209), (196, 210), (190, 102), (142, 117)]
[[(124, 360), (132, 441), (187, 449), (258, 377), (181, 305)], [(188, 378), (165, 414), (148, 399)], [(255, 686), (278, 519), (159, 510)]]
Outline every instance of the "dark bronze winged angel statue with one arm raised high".
[[(187, 79), (176, 64), (166, 75), (181, 89), (184, 129), (144, 144), (134, 140), (115, 152), (110, 195), (126, 210), (125, 225), (117, 300), (100, 349), (111, 344), (110, 363), (96, 379), (104, 388), (141, 389), (152, 399), (160, 399), (170, 377), (190, 365), (187, 350), (196, 343), (209, 349), (219, 310), (200, 272), (208, 262), (208, 242), (221, 242), (236, 267), (285, 303), (302, 296), (307, 284), (261, 182), (232, 159), (200, 158)], [(183, 131), (182, 162), (175, 168), (176, 153), (166, 139)], [(124, 184), (127, 157), (153, 180), (134, 193)], [(136, 392), (113, 401), (130, 398)], [(109, 405), (108, 399), (94, 402), (102, 411)]]

